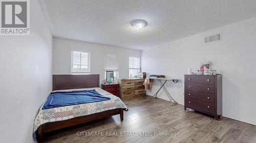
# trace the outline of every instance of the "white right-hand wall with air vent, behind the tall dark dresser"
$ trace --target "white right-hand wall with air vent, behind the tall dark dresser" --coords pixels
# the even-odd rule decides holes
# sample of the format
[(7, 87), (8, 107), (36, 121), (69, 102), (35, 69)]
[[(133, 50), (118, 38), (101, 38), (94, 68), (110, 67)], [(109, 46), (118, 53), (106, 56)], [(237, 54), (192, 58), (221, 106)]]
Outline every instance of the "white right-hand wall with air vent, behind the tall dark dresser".
[[(181, 79), (167, 83), (167, 89), (178, 103), (184, 104), (184, 75), (188, 68), (199, 69), (204, 59), (223, 74), (223, 116), (256, 125), (256, 18), (194, 36), (165, 43), (141, 53), (142, 71)], [(205, 44), (204, 37), (223, 33), (223, 40)], [(240, 70), (245, 68), (245, 73)], [(159, 88), (154, 83), (153, 95)], [(160, 98), (166, 99), (161, 92)]]

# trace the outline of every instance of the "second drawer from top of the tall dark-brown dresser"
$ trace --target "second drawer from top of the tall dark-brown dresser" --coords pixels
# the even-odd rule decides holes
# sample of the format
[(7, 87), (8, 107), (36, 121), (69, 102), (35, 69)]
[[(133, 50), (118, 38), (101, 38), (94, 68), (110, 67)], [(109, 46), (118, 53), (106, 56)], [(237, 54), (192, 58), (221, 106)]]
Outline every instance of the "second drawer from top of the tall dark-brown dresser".
[(187, 83), (185, 87), (185, 92), (196, 92), (202, 94), (214, 94), (215, 93), (215, 86), (214, 85), (207, 85), (207, 84), (192, 84)]

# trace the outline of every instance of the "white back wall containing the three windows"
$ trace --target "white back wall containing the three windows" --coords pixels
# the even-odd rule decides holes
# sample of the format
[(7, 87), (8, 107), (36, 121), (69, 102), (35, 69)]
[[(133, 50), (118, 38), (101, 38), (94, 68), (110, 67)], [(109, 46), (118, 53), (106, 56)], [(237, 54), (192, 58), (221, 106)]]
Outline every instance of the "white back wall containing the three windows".
[(91, 74), (104, 79), (104, 53), (118, 55), (119, 78), (129, 77), (129, 56), (140, 57), (141, 51), (62, 38), (53, 38), (53, 74), (71, 74), (71, 50), (91, 52)]

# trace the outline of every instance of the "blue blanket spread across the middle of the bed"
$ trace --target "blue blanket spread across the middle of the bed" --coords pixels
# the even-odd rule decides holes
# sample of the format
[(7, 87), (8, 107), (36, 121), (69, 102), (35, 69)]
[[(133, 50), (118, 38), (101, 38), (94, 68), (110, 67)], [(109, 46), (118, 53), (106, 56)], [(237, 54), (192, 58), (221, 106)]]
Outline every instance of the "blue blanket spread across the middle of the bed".
[(95, 90), (54, 92), (49, 95), (44, 106), (42, 106), (42, 109), (85, 104), (105, 100), (110, 100), (110, 98), (99, 94)]

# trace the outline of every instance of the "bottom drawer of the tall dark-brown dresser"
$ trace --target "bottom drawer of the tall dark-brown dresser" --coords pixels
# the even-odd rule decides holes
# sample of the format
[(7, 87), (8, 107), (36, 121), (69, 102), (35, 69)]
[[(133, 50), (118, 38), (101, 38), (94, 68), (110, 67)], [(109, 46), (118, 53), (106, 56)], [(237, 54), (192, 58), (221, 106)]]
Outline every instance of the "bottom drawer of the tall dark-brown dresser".
[(185, 105), (189, 107), (195, 107), (197, 109), (201, 109), (208, 112), (214, 112), (215, 105), (211, 102), (201, 102), (199, 100), (193, 99), (193, 98), (186, 98), (185, 99)]

